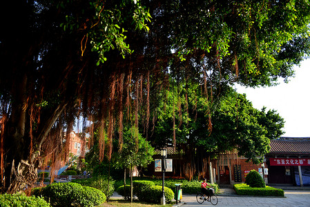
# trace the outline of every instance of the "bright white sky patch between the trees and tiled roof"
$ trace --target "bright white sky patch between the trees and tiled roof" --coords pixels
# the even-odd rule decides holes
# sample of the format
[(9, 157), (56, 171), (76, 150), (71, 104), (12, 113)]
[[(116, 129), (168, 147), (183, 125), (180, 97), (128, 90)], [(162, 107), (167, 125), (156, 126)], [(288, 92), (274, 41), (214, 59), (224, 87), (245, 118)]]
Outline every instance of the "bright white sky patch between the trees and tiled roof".
[(246, 94), (254, 108), (260, 110), (266, 106), (267, 110), (277, 110), (285, 121), (282, 137), (310, 137), (310, 59), (294, 70), (296, 75), (289, 83), (279, 81), (278, 86), (269, 88), (236, 86), (236, 89)]

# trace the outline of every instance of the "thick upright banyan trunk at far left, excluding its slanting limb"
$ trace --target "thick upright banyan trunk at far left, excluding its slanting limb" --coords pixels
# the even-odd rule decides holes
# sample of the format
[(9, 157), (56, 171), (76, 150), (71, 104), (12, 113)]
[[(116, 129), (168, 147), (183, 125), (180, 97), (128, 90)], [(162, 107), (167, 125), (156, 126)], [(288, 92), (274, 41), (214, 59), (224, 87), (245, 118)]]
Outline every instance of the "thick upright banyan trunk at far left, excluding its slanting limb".
[[(27, 112), (27, 77), (16, 77), (12, 94), (12, 110), (4, 129), (4, 168), (1, 180), (1, 192), (15, 193), (32, 186), (37, 181), (34, 155), (30, 152), (30, 139), (25, 135)], [(2, 171), (3, 170), (3, 171)]]

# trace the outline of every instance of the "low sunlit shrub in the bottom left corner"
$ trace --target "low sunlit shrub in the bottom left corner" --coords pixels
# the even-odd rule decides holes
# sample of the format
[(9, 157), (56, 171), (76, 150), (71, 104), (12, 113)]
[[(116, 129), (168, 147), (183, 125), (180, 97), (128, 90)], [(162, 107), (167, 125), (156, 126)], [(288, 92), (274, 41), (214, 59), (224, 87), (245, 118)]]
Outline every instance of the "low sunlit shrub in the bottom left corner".
[(48, 207), (50, 204), (44, 199), (34, 196), (26, 196), (21, 194), (3, 194), (0, 195), (1, 207)]

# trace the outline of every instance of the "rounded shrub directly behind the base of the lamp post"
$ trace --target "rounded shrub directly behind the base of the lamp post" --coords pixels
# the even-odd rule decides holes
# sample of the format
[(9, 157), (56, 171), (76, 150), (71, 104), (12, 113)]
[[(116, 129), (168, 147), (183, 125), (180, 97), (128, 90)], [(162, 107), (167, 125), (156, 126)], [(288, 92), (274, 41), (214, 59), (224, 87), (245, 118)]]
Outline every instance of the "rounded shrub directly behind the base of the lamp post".
[[(167, 203), (170, 203), (175, 197), (175, 193), (170, 188), (164, 187), (165, 199)], [(159, 203), (162, 197), (162, 186), (151, 186), (142, 191), (142, 197), (146, 202)]]

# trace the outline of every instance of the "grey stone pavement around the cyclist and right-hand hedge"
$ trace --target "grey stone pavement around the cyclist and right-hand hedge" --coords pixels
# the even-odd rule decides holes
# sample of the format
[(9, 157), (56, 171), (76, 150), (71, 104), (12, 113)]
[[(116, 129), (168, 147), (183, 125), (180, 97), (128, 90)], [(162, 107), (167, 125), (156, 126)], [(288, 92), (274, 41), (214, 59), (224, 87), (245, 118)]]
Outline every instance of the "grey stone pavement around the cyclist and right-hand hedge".
[[(310, 206), (310, 188), (297, 188), (295, 190), (284, 189), (284, 197), (251, 197), (239, 196), (235, 194), (232, 188), (220, 189), (220, 195), (217, 195), (217, 207), (222, 206), (253, 206), (253, 207), (291, 207), (291, 206)], [(209, 201), (204, 201), (203, 204), (198, 204), (196, 195), (183, 195), (182, 202), (179, 205), (182, 207), (197, 207), (197, 206), (213, 206)]]

